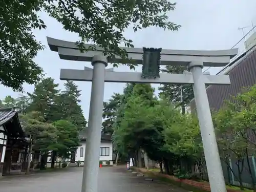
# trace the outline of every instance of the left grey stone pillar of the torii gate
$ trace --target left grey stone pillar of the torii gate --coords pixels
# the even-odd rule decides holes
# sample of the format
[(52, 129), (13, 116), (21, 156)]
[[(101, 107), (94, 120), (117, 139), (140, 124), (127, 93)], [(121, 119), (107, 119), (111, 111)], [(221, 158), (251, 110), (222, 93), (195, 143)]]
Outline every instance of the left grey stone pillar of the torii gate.
[(104, 56), (97, 55), (92, 59), (93, 79), (87, 128), (86, 153), (83, 167), (82, 192), (98, 191), (104, 77), (105, 67), (107, 65), (108, 60)]

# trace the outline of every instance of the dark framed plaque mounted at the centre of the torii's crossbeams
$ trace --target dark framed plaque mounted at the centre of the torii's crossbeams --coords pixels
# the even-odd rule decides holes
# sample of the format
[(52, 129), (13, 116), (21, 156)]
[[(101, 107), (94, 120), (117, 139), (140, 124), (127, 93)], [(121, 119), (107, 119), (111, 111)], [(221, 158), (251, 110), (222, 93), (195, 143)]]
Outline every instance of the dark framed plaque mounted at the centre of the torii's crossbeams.
[(142, 75), (143, 78), (160, 77), (160, 59), (162, 48), (143, 47)]

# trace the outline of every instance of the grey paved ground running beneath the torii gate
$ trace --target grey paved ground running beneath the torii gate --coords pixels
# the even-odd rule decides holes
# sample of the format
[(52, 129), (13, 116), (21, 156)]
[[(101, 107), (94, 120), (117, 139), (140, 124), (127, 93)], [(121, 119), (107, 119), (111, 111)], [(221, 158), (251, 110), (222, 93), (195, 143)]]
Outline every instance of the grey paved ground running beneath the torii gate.
[[(81, 192), (82, 167), (29, 176), (5, 176), (0, 179), (0, 192)], [(124, 166), (102, 167), (98, 192), (187, 192), (127, 172)]]

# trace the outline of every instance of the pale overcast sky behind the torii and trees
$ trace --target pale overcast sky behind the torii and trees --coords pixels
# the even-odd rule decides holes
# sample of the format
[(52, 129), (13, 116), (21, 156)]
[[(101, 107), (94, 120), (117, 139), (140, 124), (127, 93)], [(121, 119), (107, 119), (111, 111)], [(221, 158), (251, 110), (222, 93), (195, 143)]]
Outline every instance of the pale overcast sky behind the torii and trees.
[[(256, 25), (256, 1), (255, 0), (177, 0), (177, 7), (169, 14), (169, 19), (182, 26), (177, 32), (163, 31), (159, 28), (148, 28), (134, 33), (132, 28), (125, 32), (126, 38), (134, 41), (135, 47), (154, 47), (163, 49), (185, 49), (185, 50), (222, 50), (230, 49), (242, 37), (239, 27), (247, 27), (247, 33)], [(47, 73), (47, 77), (53, 77), (56, 83), (63, 88), (63, 81), (59, 79), (61, 68), (83, 69), (84, 66), (91, 67), (89, 62), (61, 60), (57, 52), (50, 51), (47, 46), (46, 36), (68, 41), (78, 40), (76, 34), (62, 29), (55, 19), (47, 14), (41, 14), (47, 25), (47, 30), (35, 31), (36, 38), (46, 46), (44, 51), (38, 53), (35, 61)], [(244, 45), (239, 44), (240, 52)], [(111, 67), (111, 66), (110, 66)], [(220, 69), (209, 69), (211, 74), (216, 74)], [(115, 71), (129, 71), (127, 67), (120, 66)], [(136, 71), (140, 72), (141, 69)], [(76, 82), (82, 91), (80, 99), (84, 116), (88, 119), (91, 82)], [(105, 83), (104, 100), (108, 100), (114, 92), (122, 92), (124, 83)], [(154, 84), (157, 90), (158, 84)], [(26, 92), (33, 92), (34, 87), (24, 85)], [(17, 97), (10, 88), (1, 86), (0, 98), (7, 95)]]

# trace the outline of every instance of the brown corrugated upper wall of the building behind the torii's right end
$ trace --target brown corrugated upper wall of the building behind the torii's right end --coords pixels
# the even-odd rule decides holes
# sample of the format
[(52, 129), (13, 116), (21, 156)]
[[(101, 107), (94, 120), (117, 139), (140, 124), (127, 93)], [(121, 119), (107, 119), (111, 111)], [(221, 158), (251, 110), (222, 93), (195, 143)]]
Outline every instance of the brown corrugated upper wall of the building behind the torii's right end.
[[(212, 85), (207, 88), (210, 109), (217, 111), (222, 108), (225, 100), (230, 100), (245, 87), (256, 83), (256, 46), (246, 51), (217, 75), (229, 75), (231, 84)], [(189, 103), (191, 112), (196, 111), (195, 100)]]

